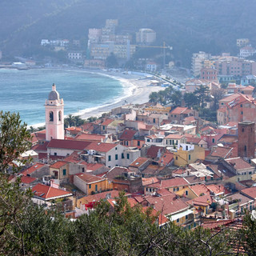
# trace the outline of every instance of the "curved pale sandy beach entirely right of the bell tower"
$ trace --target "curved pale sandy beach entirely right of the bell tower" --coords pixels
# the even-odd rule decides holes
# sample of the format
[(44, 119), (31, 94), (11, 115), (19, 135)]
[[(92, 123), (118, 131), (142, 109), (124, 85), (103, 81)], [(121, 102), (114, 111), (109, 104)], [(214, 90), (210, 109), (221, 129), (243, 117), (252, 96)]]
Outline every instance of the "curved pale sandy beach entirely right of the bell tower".
[(114, 71), (96, 71), (95, 73), (108, 75), (120, 80), (124, 86), (125, 94), (120, 101), (109, 104), (108, 106), (99, 106), (97, 109), (90, 111), (85, 110), (85, 113), (80, 114), (81, 118), (84, 119), (90, 117), (99, 117), (103, 113), (110, 112), (110, 110), (114, 109), (115, 107), (125, 104), (142, 104), (148, 102), (151, 92), (164, 90), (162, 86), (149, 86), (150, 78), (146, 78), (142, 74), (122, 74)]

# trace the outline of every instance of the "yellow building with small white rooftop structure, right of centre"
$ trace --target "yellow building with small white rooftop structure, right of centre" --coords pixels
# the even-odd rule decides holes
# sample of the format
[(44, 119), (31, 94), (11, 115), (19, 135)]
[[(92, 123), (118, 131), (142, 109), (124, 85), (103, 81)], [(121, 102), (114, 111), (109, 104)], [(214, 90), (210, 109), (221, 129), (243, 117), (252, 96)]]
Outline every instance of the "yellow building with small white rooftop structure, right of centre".
[(198, 159), (205, 159), (205, 149), (191, 144), (180, 144), (177, 152), (174, 152), (174, 166), (187, 166)]

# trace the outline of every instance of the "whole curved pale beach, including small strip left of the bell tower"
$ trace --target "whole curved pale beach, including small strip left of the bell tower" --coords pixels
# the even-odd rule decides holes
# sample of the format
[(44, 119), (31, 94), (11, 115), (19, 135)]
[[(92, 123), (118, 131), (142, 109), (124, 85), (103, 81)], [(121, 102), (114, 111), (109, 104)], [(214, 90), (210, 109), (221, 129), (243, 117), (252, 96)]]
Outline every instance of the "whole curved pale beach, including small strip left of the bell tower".
[[(73, 69), (66, 69), (73, 70)], [(164, 90), (162, 86), (149, 86), (151, 78), (146, 78), (146, 73), (133, 74), (129, 71), (127, 74), (114, 72), (114, 71), (104, 71), (104, 70), (80, 70), (82, 72), (98, 74), (102, 76), (107, 76), (113, 79), (118, 80), (122, 84), (123, 90), (127, 93), (124, 93), (121, 97), (116, 98), (116, 100), (105, 106), (94, 106), (89, 109), (79, 110), (76, 113), (69, 113), (74, 116), (79, 116), (82, 119), (96, 117), (99, 118), (103, 113), (108, 113), (110, 110), (126, 105), (126, 104), (142, 104), (149, 101), (149, 96), (151, 92), (158, 92), (159, 90)], [(115, 99), (115, 98), (114, 98)], [(64, 106), (65, 113), (65, 106)], [(67, 117), (69, 114), (65, 114)], [(34, 128), (45, 126), (45, 122), (37, 123), (30, 125)]]

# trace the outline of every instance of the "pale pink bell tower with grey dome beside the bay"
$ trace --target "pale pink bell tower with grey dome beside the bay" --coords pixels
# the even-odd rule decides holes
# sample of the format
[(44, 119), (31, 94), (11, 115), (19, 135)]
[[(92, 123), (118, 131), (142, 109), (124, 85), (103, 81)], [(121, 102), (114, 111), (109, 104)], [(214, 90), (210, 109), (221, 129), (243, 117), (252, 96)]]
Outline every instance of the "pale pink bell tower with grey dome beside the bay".
[(55, 84), (46, 99), (46, 141), (64, 139), (64, 102), (59, 98)]

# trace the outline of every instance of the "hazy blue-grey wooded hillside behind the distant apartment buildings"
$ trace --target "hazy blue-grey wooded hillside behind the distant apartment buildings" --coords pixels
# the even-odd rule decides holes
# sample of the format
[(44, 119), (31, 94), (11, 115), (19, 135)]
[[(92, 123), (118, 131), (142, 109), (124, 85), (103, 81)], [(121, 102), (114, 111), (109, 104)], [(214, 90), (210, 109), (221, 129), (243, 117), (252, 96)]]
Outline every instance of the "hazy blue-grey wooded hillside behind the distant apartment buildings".
[(5, 54), (24, 54), (42, 38), (77, 38), (85, 45), (88, 29), (104, 26), (106, 18), (118, 18), (119, 31), (152, 28), (156, 44), (174, 46), (174, 57), (186, 66), (198, 50), (234, 54), (236, 38), (256, 42), (254, 1), (2, 0), (0, 7), (0, 49)]

